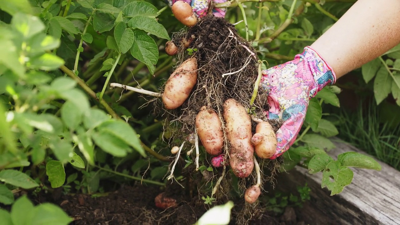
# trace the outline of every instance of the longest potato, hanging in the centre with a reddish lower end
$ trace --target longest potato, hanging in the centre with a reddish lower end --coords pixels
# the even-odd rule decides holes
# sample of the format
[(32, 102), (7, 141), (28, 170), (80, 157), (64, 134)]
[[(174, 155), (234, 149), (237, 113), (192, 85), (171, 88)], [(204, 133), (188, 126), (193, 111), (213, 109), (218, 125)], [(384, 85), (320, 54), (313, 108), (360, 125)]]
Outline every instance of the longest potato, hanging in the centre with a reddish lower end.
[(236, 177), (248, 177), (254, 167), (250, 116), (239, 102), (230, 98), (224, 102), (224, 119), (230, 143), (230, 167)]

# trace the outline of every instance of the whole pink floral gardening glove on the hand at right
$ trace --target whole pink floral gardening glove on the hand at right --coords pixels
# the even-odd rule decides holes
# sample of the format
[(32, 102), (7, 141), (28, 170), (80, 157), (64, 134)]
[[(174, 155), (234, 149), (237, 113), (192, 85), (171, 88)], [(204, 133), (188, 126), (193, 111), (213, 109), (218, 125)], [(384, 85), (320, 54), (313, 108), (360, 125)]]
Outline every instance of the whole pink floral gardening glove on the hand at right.
[(284, 123), (276, 132), (276, 153), (282, 155), (294, 143), (306, 117), (310, 98), (328, 84), (336, 82), (332, 68), (318, 53), (307, 46), (294, 60), (262, 71), (261, 88), (268, 93), (268, 119)]

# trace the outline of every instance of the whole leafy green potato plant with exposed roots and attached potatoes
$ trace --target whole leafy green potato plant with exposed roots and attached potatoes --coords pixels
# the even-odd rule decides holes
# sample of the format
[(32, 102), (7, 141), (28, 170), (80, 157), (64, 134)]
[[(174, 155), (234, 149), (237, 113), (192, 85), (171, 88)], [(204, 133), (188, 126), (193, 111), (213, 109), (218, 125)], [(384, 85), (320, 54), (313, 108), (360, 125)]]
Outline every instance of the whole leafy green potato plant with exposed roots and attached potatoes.
[[(351, 183), (348, 167), (379, 170), (364, 155), (335, 161), (326, 153), (338, 132), (322, 107), (339, 106), (337, 86), (310, 100), (294, 145), (280, 160), (268, 159), (279, 121), (266, 120), (266, 93), (254, 84), (262, 69), (291, 60), (351, 5), (325, 2), (229, 1), (215, 6), (229, 8), (226, 19), (197, 20), (182, 2), (170, 8), (162, 1), (0, 1), (0, 203), (12, 205), (0, 209), (0, 220), (68, 224), (72, 218), (56, 205), (34, 206), (14, 194), (104, 193), (105, 180), (165, 186), (193, 176), (199, 199), (222, 201), (214, 197), (228, 183), (251, 205), (269, 185), (272, 178), (261, 176), (268, 171), (322, 172), (334, 195)], [(231, 42), (210, 42), (204, 27)], [(230, 55), (210, 60), (220, 46)], [(393, 78), (393, 95), (396, 52), (362, 68), (367, 82), (375, 74), (376, 82)], [(377, 101), (389, 92), (381, 94)], [(163, 193), (155, 202), (178, 205)]]

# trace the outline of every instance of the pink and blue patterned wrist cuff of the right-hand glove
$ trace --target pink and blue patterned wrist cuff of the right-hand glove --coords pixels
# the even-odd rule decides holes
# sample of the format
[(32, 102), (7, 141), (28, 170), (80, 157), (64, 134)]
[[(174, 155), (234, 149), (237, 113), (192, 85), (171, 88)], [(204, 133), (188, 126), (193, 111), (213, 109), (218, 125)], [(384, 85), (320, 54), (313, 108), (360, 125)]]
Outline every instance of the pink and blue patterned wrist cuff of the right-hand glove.
[(296, 58), (306, 60), (315, 84), (310, 90), (310, 98), (313, 98), (318, 91), (326, 85), (332, 85), (336, 82), (336, 75), (328, 63), (310, 46), (304, 48), (304, 52), (296, 56)]

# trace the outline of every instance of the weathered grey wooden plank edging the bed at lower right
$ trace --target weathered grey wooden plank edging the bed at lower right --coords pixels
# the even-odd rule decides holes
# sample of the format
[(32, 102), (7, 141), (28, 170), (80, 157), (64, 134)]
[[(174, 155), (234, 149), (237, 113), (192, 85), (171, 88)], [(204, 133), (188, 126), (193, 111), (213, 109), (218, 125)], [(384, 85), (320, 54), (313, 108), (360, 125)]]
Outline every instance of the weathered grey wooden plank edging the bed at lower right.
[[(340, 153), (349, 151), (367, 155), (339, 139), (332, 141), (336, 149), (328, 154), (334, 159)], [(321, 189), (322, 173), (311, 175), (307, 169), (300, 167), (278, 176), (276, 188), (294, 191), (296, 187), (285, 184), (308, 184), (312, 189), (311, 201), (304, 205), (298, 217), (310, 225), (400, 225), (400, 172), (377, 161), (382, 165), (382, 171), (351, 168), (353, 181), (338, 195), (330, 196), (327, 188)]]

